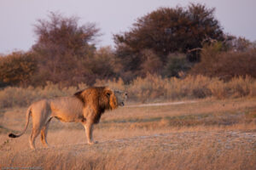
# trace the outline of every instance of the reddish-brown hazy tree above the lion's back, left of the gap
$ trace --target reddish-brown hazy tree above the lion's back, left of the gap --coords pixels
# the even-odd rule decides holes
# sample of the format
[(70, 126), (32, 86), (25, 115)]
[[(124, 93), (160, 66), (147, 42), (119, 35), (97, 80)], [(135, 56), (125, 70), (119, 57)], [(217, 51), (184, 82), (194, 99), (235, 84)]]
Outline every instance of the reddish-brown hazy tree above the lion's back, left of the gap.
[(50, 13), (49, 20), (38, 20), (34, 31), (38, 40), (32, 50), (39, 68), (35, 85), (46, 81), (71, 85), (90, 79), (86, 60), (93, 57), (100, 35), (95, 24), (79, 26), (77, 17)]

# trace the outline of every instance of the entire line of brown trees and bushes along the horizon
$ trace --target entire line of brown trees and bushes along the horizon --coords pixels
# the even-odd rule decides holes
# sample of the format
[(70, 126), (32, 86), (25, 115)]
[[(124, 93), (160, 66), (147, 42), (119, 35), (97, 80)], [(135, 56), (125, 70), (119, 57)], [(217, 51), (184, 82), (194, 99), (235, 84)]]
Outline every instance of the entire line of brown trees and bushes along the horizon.
[(224, 81), (256, 77), (255, 43), (224, 34), (214, 8), (158, 8), (138, 18), (129, 31), (113, 35), (115, 48), (96, 48), (100, 29), (79, 26), (77, 17), (50, 13), (38, 20), (38, 39), (28, 52), (0, 57), (0, 87), (61, 88), (148, 74), (163, 78), (204, 75)]

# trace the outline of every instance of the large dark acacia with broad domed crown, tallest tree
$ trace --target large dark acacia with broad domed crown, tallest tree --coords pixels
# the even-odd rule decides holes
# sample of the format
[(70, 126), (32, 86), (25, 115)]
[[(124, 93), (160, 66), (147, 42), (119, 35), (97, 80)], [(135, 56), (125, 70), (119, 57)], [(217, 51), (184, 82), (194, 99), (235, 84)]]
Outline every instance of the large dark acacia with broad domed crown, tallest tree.
[[(113, 35), (116, 53), (126, 71), (136, 72), (143, 64), (144, 49), (151, 49), (165, 64), (168, 54), (201, 48), (206, 38), (223, 41), (222, 27), (213, 13), (214, 8), (193, 3), (188, 8), (159, 8), (137, 19), (130, 31)], [(192, 53), (189, 60), (199, 57)]]

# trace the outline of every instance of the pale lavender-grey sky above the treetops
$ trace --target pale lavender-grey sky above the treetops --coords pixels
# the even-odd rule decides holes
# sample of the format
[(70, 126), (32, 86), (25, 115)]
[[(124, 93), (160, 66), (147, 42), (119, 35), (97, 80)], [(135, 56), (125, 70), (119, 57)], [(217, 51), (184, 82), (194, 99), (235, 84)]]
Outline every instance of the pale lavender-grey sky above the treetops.
[(137, 18), (160, 7), (203, 3), (216, 8), (225, 33), (256, 40), (256, 0), (0, 0), (0, 54), (29, 50), (36, 41), (33, 25), (49, 12), (78, 16), (101, 29), (98, 47), (111, 45), (113, 34), (128, 31)]

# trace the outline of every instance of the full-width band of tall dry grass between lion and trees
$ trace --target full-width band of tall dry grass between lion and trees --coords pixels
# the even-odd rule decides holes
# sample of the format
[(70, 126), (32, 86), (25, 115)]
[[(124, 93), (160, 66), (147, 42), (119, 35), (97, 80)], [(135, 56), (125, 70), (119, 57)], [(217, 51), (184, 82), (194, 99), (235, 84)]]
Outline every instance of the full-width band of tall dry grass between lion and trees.
[[(256, 81), (251, 77), (236, 77), (230, 82), (218, 78), (188, 76), (184, 79), (161, 78), (148, 75), (137, 77), (130, 84), (121, 79), (113, 81), (96, 81), (96, 86), (109, 86), (113, 89), (125, 90), (129, 99), (136, 102), (162, 102), (180, 99), (236, 99), (256, 96)], [(0, 108), (12, 108), (30, 105), (33, 101), (55, 96), (73, 95), (86, 84), (78, 87), (59, 88), (57, 84), (48, 82), (42, 88), (4, 88), (0, 90)]]

